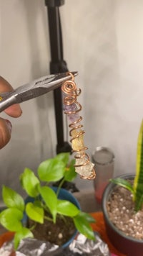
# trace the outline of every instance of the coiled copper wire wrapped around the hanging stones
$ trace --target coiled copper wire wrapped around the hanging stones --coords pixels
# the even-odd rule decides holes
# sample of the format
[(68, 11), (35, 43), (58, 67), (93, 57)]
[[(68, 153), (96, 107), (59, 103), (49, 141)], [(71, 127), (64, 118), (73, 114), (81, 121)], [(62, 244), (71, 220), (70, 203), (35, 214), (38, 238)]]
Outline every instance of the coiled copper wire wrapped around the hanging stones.
[[(82, 106), (81, 104), (79, 104), (79, 102), (77, 101), (77, 96), (79, 96), (79, 94), (81, 93), (81, 89), (77, 88), (76, 83), (74, 83), (74, 76), (69, 73), (72, 78), (69, 81), (65, 81), (63, 83), (63, 85), (61, 86), (61, 90), (64, 92), (64, 105), (65, 106), (71, 106), (72, 104), (74, 104), (76, 106), (75, 110), (71, 110), (71, 111), (64, 111), (64, 114), (67, 115), (71, 115), (71, 114), (77, 114), (79, 111), (82, 110)], [(80, 129), (80, 131), (77, 132), (77, 134), (71, 138), (70, 142), (72, 143), (73, 140), (76, 140), (77, 138), (79, 138), (82, 134), (84, 134), (84, 130), (82, 130), (81, 128), (83, 127), (83, 125), (81, 124), (82, 121), (82, 116), (79, 116), (79, 118), (74, 121), (71, 122), (71, 124), (69, 124), (69, 136), (72, 137), (72, 132), (75, 130), (78, 131), (78, 129)], [(74, 157), (76, 159), (82, 159), (83, 163), (80, 165), (74, 165), (75, 167), (81, 167), (84, 165), (87, 165), (90, 162), (90, 158), (89, 155), (84, 152), (85, 150), (87, 150), (88, 147), (81, 147), (78, 150), (72, 150), (73, 152), (75, 152), (76, 154), (74, 155)], [(81, 176), (81, 178), (84, 179), (88, 179), (88, 180), (92, 180), (95, 178), (95, 171), (94, 168), (92, 170), (92, 173), (89, 175), (89, 177), (86, 176)]]

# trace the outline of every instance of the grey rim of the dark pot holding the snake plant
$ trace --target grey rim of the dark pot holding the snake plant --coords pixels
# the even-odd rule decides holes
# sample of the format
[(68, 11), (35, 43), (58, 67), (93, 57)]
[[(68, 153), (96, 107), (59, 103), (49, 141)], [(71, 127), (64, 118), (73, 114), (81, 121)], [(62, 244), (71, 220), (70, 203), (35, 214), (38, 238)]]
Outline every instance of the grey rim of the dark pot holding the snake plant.
[[(119, 176), (117, 176), (117, 178), (125, 178), (125, 179), (132, 178), (132, 179), (134, 179), (134, 176), (135, 176), (134, 173), (128, 173), (128, 174), (124, 174), (124, 175), (119, 175)], [(116, 186), (117, 186), (117, 184), (109, 183), (104, 190), (104, 194), (102, 197), (102, 211), (104, 212), (104, 218), (106, 219), (109, 226), (112, 227), (112, 229), (114, 229), (114, 232), (117, 232), (120, 236), (122, 236), (128, 240), (132, 240), (133, 242), (138, 242), (138, 243), (142, 244), (143, 240), (127, 236), (126, 234), (124, 234), (124, 232), (117, 229), (117, 227), (109, 219), (109, 215), (107, 213), (107, 200), (109, 198), (109, 195), (112, 193), (112, 191), (114, 190), (114, 188)]]

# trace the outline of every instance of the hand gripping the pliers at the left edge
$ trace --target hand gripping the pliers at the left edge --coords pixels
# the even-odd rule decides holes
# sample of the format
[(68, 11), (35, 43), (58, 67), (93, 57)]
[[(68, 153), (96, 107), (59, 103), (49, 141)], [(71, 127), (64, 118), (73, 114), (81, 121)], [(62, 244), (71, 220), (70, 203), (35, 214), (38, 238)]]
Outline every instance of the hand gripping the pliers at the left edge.
[[(0, 94), (6, 91), (12, 91), (12, 86), (0, 76)], [(19, 104), (9, 106), (4, 111), (6, 114), (12, 117), (19, 117), (22, 114)], [(11, 139), (12, 125), (7, 119), (0, 118), (0, 149), (4, 147)]]

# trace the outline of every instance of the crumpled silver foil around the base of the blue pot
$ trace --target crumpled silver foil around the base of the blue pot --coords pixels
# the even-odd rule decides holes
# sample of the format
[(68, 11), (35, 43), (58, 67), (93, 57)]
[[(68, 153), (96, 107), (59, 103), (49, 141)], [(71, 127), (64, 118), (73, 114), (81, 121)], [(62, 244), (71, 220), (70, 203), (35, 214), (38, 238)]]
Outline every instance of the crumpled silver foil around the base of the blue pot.
[[(43, 242), (37, 239), (26, 238), (21, 240), (19, 248), (14, 254), (12, 242), (4, 244), (0, 249), (1, 256), (110, 256), (109, 248), (102, 241), (98, 233), (95, 234), (95, 241), (87, 239), (83, 234), (79, 234), (77, 239), (74, 239), (69, 247), (62, 248), (49, 242)], [(1, 254), (3, 250), (3, 253)], [(7, 253), (7, 254), (6, 254)], [(8, 254), (9, 253), (9, 254)], [(112, 256), (112, 255), (111, 255)]]

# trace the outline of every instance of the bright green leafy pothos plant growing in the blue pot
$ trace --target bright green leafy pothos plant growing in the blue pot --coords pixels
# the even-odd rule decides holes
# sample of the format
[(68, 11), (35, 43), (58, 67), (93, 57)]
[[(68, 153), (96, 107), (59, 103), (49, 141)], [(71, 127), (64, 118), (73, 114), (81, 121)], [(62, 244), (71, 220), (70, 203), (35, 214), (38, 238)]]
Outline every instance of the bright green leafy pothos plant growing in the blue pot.
[[(60, 153), (56, 157), (42, 162), (37, 170), (37, 176), (29, 168), (24, 169), (20, 175), (20, 183), (27, 196), (34, 198), (34, 202), (25, 204), (19, 193), (3, 186), (2, 196), (6, 209), (0, 213), (0, 223), (14, 235), (14, 247), (19, 246), (21, 239), (34, 237), (31, 229), (24, 227), (22, 219), (24, 214), (35, 223), (44, 224), (44, 219), (56, 223), (58, 215), (69, 216), (73, 219), (76, 229), (89, 239), (94, 239), (91, 223), (94, 219), (82, 212), (70, 201), (58, 198), (60, 188), (64, 181), (71, 181), (77, 174), (74, 170), (74, 160), (69, 162), (69, 153)], [(61, 180), (56, 193), (51, 183)], [(48, 214), (50, 214), (50, 217)]]

